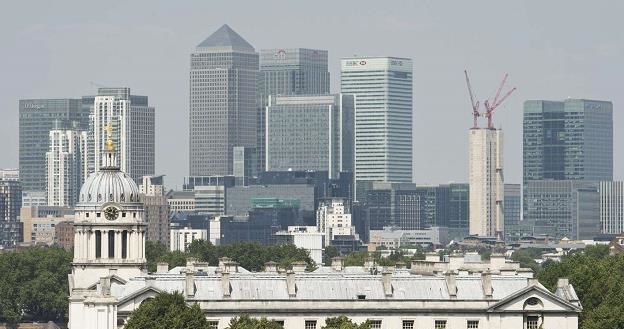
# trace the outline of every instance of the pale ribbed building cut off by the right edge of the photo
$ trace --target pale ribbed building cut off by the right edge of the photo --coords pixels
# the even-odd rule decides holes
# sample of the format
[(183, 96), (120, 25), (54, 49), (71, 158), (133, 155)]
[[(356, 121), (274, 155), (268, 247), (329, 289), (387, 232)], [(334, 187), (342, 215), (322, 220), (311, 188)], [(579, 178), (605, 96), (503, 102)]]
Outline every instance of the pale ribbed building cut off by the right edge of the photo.
[(624, 233), (624, 182), (600, 182), (599, 194), (601, 233)]

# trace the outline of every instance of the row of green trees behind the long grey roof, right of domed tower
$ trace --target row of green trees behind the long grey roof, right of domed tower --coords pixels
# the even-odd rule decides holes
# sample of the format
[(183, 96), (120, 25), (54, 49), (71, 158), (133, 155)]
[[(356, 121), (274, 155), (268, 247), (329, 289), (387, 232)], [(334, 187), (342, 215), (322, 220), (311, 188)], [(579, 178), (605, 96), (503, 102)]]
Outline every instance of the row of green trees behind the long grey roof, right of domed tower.
[(212, 266), (217, 266), (220, 258), (228, 257), (253, 272), (262, 271), (267, 262), (275, 262), (282, 268), (288, 268), (294, 262), (306, 262), (308, 269), (316, 266), (307, 250), (294, 245), (263, 246), (257, 242), (240, 242), (215, 246), (209, 241), (195, 240), (186, 249), (185, 252), (169, 251), (161, 243), (147, 241), (145, 251), (148, 270), (156, 271), (159, 262), (166, 262), (169, 267), (184, 266), (189, 257), (197, 258)]

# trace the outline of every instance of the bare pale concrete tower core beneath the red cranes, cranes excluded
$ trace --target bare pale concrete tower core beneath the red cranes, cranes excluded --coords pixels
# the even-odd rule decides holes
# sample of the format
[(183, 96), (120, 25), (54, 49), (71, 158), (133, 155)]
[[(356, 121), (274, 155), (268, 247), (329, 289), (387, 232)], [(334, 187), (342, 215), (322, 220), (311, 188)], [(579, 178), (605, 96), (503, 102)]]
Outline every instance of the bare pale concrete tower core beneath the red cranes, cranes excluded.
[(503, 227), (503, 133), (473, 128), (468, 139), (469, 232), (495, 237)]

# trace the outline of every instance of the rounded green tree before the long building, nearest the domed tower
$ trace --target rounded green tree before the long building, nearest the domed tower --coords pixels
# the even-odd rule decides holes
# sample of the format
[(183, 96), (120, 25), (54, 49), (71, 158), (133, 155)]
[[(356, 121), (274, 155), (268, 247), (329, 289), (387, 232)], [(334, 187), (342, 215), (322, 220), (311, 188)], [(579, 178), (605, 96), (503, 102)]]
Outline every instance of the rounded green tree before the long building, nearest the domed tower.
[(126, 329), (208, 329), (208, 320), (199, 305), (189, 306), (176, 292), (162, 293), (145, 300), (130, 313)]

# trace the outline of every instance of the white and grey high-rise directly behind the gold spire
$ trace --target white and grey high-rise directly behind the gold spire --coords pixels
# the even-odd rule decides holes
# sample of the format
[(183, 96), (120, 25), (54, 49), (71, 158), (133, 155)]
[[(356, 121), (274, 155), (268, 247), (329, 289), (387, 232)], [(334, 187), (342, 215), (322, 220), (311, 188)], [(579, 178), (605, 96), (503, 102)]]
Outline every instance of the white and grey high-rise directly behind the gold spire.
[(155, 171), (155, 113), (147, 96), (132, 95), (130, 88), (99, 88), (97, 96), (83, 97), (92, 102), (89, 167), (97, 172), (104, 154), (106, 129), (112, 129), (121, 170), (136, 182)]

